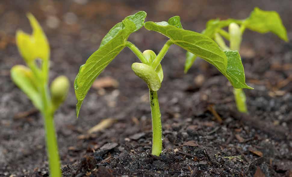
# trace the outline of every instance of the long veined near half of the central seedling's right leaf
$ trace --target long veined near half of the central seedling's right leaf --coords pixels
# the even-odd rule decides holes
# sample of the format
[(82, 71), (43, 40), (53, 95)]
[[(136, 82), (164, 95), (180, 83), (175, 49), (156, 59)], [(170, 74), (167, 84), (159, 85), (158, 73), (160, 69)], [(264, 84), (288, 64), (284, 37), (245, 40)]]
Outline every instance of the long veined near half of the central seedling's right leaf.
[(169, 37), (174, 44), (203, 58), (214, 65), (222, 74), (226, 73), (226, 55), (209, 37), (194, 31), (180, 29), (165, 21), (159, 23), (146, 22), (144, 27)]

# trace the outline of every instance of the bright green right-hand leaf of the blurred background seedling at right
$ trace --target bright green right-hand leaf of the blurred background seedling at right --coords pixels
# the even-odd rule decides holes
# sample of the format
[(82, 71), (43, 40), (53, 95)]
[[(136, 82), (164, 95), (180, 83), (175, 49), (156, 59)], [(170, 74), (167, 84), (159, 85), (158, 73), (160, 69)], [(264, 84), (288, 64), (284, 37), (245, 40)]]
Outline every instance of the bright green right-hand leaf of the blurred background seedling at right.
[(272, 32), (282, 40), (288, 41), (287, 31), (280, 15), (276, 11), (263, 11), (259, 8), (254, 8), (244, 24), (250, 30), (259, 33)]

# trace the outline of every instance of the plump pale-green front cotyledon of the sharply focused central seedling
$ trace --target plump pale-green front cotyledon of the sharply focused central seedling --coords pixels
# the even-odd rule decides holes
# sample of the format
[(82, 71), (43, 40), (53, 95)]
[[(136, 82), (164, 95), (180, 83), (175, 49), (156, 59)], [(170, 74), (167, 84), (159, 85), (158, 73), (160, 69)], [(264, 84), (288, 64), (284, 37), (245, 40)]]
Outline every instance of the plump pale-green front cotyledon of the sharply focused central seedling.
[(146, 65), (144, 63), (133, 63), (132, 64), (132, 70), (135, 72), (135, 74), (143, 79), (150, 90), (157, 91), (161, 87), (161, 81), (160, 78), (154, 69)]

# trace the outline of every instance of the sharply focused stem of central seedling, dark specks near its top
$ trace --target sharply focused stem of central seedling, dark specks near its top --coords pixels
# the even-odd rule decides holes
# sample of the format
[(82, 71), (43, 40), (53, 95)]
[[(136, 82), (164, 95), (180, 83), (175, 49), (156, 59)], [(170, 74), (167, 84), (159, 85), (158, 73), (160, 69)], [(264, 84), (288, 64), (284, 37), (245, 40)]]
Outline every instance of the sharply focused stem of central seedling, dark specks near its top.
[(162, 126), (157, 91), (149, 89), (149, 97), (153, 132), (152, 155), (160, 156), (162, 151)]

